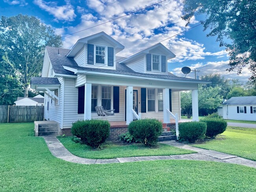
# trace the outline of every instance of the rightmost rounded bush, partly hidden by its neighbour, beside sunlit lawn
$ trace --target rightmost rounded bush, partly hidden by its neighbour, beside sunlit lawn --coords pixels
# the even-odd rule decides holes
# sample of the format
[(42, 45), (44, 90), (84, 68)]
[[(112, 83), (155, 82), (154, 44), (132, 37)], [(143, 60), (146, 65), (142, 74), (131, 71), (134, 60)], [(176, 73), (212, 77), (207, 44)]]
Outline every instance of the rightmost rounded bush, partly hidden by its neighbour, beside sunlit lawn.
[(206, 137), (215, 138), (226, 130), (228, 123), (222, 118), (204, 118), (200, 122), (207, 124)]

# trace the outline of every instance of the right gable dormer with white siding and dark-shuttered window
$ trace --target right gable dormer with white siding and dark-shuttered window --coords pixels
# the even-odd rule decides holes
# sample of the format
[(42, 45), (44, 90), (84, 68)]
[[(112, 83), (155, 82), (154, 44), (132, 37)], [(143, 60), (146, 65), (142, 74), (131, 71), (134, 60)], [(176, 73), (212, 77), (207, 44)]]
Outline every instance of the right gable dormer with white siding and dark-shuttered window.
[(120, 63), (124, 63), (135, 72), (168, 75), (167, 61), (174, 57), (176, 55), (173, 52), (163, 44), (158, 43), (124, 59)]

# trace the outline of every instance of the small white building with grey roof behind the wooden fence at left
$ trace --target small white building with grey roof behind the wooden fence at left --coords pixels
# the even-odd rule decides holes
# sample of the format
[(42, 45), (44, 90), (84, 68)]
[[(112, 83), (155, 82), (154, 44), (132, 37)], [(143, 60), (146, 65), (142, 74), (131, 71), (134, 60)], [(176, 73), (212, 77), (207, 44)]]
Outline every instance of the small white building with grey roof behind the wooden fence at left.
[(35, 97), (18, 97), (17, 101), (14, 102), (15, 105), (29, 105), (29, 106), (37, 106), (44, 105), (44, 96), (37, 95)]

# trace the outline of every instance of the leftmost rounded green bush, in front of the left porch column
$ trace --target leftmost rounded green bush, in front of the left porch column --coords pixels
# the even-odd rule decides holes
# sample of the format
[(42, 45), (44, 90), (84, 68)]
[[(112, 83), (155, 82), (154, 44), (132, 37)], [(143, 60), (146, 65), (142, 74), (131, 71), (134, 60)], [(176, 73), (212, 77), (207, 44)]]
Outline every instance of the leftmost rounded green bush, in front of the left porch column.
[(72, 123), (71, 133), (93, 148), (99, 147), (109, 137), (110, 124), (106, 120), (78, 120)]

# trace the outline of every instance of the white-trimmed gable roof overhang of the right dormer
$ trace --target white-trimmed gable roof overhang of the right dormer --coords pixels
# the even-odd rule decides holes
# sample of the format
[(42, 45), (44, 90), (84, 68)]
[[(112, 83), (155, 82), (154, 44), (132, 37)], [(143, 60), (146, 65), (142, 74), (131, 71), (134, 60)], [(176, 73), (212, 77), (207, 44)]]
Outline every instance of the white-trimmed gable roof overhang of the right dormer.
[(160, 51), (161, 51), (164, 55), (167, 56), (167, 60), (173, 59), (174, 57), (176, 57), (176, 55), (174, 55), (174, 53), (171, 52), (169, 49), (167, 49), (163, 44), (158, 43), (158, 44), (155, 44), (155, 45), (153, 45), (153, 46), (150, 46), (150, 47), (148, 47), (148, 48), (146, 48), (146, 49), (144, 49), (144, 50), (142, 50), (142, 51), (140, 51), (140, 52), (137, 52), (136, 54), (134, 54), (134, 55), (132, 55), (132, 56), (130, 56), (130, 57), (128, 57), (128, 58), (122, 60), (122, 61), (119, 62), (119, 63), (124, 63), (124, 64), (125, 64), (125, 63), (128, 63), (128, 62), (130, 62), (130, 61), (133, 61), (133, 60), (135, 60), (135, 59), (138, 59), (139, 57), (141, 57), (141, 56), (143, 56), (143, 55), (149, 54), (151, 50), (156, 49), (156, 48), (160, 49)]

